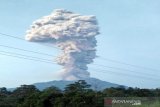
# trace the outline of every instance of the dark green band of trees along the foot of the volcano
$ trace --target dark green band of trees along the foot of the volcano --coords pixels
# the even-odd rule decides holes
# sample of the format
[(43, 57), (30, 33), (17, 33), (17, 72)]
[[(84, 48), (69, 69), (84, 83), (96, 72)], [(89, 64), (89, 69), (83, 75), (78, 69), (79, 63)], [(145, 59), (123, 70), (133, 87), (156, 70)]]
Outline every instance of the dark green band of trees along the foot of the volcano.
[[(0, 107), (104, 107), (105, 97), (160, 97), (160, 89), (120, 86), (96, 91), (84, 80), (69, 84), (64, 90), (52, 86), (40, 91), (33, 85), (22, 85), (10, 92), (3, 87), (0, 88)], [(139, 107), (160, 107), (160, 103)]]

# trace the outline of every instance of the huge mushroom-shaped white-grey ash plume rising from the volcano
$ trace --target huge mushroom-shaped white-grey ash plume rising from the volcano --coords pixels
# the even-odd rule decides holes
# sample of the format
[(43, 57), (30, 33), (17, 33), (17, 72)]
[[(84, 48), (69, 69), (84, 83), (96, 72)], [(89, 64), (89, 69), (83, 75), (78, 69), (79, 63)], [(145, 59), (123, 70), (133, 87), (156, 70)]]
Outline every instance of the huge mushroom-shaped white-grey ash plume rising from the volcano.
[(99, 34), (95, 16), (83, 16), (58, 9), (51, 15), (36, 20), (27, 31), (26, 40), (50, 43), (62, 54), (56, 62), (63, 66), (64, 80), (88, 78), (87, 64), (96, 57), (96, 38)]

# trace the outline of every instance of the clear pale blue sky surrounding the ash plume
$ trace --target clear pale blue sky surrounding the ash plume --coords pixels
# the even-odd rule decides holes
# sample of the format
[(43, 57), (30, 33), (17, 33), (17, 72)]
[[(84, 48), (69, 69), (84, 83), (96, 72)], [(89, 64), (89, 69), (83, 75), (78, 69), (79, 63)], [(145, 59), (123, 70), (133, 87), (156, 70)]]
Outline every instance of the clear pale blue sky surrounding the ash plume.
[[(91, 77), (131, 87), (157, 88), (160, 87), (159, 5), (159, 0), (0, 0), (0, 33), (24, 38), (33, 21), (54, 9), (95, 15), (100, 27), (96, 37), (99, 57), (89, 65)], [(4, 35), (0, 35), (0, 45), (51, 54), (53, 57), (0, 47), (0, 51), (53, 61), (61, 52), (52, 46)], [(0, 55), (0, 68), (0, 87), (17, 87), (59, 80), (57, 73), (62, 67)]]

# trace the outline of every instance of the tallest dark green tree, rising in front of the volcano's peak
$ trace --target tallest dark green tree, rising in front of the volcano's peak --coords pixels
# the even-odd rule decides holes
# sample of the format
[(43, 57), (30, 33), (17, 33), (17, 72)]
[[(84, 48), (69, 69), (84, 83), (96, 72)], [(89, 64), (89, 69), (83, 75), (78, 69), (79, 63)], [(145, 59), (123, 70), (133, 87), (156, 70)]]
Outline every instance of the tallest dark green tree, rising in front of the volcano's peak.
[(69, 84), (65, 88), (66, 107), (91, 107), (96, 105), (95, 92), (84, 80)]

